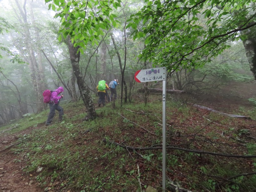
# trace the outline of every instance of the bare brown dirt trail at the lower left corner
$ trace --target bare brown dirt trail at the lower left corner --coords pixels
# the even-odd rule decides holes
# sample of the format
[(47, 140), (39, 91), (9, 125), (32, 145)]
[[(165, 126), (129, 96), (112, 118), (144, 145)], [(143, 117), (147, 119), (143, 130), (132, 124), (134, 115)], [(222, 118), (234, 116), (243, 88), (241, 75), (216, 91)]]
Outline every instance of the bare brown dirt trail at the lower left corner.
[[(40, 192), (44, 189), (40, 188), (36, 183), (33, 174), (23, 172), (22, 167), (25, 166), (24, 159), (7, 148), (17, 143), (18, 135), (28, 134), (33, 129), (39, 129), (43, 125), (36, 128), (29, 128), (19, 133), (9, 134), (0, 133), (0, 191), (1, 192)], [(4, 150), (7, 148), (6, 150)]]

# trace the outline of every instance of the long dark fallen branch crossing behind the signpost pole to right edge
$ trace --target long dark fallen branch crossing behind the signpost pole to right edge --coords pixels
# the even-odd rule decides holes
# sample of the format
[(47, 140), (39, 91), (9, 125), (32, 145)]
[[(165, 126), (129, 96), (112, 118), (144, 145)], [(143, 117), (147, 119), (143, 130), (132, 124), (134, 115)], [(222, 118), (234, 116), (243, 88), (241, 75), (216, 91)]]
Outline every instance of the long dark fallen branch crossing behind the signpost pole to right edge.
[[(114, 142), (114, 141), (107, 141), (105, 138), (104, 138), (103, 142), (108, 143), (108, 144), (114, 144), (114, 145), (122, 147), (124, 149), (128, 148), (128, 149), (133, 150), (133, 151), (163, 149), (162, 147), (131, 147), (131, 146), (125, 146), (125, 145), (121, 145), (120, 143), (117, 143), (117, 142)], [(223, 157), (256, 158), (256, 155), (246, 156), (246, 155), (221, 154), (221, 153), (214, 153), (214, 152), (210, 152), (210, 151), (202, 151), (202, 150), (197, 150), (197, 149), (185, 149), (185, 148), (172, 147), (172, 146), (167, 146), (166, 149), (174, 149), (174, 150), (180, 150), (180, 151), (186, 151), (186, 152), (192, 152), (192, 153), (198, 153), (198, 154), (209, 154), (209, 155), (223, 156)]]

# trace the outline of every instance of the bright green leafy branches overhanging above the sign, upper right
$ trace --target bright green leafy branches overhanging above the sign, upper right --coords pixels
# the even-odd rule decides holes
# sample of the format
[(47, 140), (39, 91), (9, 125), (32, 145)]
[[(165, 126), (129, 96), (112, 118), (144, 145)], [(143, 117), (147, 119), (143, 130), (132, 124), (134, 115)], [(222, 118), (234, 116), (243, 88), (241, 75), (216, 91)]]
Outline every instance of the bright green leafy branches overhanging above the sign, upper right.
[(197, 68), (229, 47), (228, 42), (247, 39), (242, 32), (256, 25), (251, 0), (145, 3), (126, 28), (133, 28), (133, 39), (145, 38), (141, 58), (168, 69)]

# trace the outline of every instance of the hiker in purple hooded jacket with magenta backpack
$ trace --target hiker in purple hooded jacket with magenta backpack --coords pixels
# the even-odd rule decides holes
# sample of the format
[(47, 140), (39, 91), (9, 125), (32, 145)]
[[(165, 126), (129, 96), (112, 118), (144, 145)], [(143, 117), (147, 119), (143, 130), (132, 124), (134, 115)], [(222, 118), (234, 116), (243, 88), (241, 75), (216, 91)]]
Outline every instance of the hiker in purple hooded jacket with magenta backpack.
[(50, 113), (48, 115), (45, 125), (50, 125), (52, 123), (52, 120), (55, 115), (55, 110), (59, 111), (59, 121), (63, 120), (62, 116), (64, 115), (64, 111), (63, 111), (63, 108), (60, 107), (60, 105), (59, 105), (59, 101), (63, 97), (63, 94), (58, 96), (63, 91), (64, 91), (63, 87), (59, 87), (58, 89), (52, 91), (51, 101), (49, 102)]

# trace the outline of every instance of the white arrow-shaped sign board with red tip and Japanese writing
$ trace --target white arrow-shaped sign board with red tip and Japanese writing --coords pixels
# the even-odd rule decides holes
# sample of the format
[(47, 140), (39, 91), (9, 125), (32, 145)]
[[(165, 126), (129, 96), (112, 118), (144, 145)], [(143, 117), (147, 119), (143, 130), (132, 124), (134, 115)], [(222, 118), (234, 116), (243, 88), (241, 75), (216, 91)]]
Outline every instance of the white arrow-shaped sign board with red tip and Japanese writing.
[(149, 81), (163, 81), (165, 79), (165, 67), (143, 69), (135, 73), (135, 81), (139, 83), (149, 82)]

